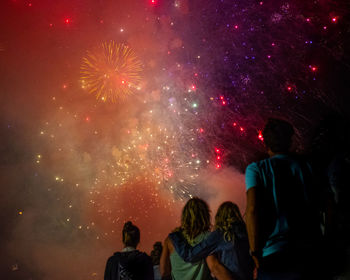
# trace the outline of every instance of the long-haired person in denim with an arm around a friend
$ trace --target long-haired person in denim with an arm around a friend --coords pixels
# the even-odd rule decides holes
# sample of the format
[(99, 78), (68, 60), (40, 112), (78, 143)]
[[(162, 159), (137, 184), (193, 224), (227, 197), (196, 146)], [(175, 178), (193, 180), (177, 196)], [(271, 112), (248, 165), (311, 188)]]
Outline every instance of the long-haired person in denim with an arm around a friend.
[(233, 202), (226, 201), (220, 205), (214, 231), (196, 246), (190, 246), (181, 231), (171, 233), (169, 238), (186, 262), (207, 258), (213, 276), (219, 280), (253, 278), (254, 265), (249, 254), (245, 223)]

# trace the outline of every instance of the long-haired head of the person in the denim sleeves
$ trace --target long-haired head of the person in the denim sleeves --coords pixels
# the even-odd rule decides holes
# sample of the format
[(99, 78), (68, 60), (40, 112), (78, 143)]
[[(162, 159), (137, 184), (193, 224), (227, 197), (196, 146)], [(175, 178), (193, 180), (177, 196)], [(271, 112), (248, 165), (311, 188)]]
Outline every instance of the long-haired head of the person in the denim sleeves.
[(215, 215), (215, 229), (224, 232), (226, 241), (234, 241), (234, 228), (238, 223), (244, 224), (238, 206), (231, 201), (222, 203)]

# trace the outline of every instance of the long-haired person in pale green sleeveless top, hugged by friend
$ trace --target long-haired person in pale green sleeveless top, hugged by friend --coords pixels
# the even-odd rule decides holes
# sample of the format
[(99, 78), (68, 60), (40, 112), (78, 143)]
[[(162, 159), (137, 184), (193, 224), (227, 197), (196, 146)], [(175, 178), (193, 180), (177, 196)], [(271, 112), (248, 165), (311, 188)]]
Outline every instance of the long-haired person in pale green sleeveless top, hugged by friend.
[[(182, 210), (181, 232), (183, 238), (194, 246), (204, 240), (209, 234), (209, 206), (200, 198), (190, 199)], [(164, 241), (160, 258), (160, 273), (162, 279), (175, 280), (205, 280), (211, 279), (205, 260), (185, 262), (174, 250), (172, 241), (167, 237)]]

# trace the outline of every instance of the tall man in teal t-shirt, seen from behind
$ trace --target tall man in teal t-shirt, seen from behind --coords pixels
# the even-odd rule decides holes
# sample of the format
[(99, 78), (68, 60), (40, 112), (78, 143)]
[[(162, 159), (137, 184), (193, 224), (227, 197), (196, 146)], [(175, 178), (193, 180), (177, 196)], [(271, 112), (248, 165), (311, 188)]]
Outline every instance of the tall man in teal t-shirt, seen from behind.
[(321, 279), (319, 186), (308, 161), (290, 154), (294, 129), (269, 119), (269, 158), (246, 169), (247, 230), (258, 279)]

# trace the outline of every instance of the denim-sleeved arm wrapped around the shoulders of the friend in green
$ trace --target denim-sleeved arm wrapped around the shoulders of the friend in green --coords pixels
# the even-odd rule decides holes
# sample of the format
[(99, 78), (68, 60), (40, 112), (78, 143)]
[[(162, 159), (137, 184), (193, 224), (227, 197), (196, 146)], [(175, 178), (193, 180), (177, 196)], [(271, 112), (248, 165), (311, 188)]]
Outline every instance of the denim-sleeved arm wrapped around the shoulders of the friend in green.
[(196, 246), (188, 244), (182, 233), (177, 231), (169, 234), (169, 238), (174, 245), (176, 252), (186, 262), (197, 262), (206, 258), (212, 253), (220, 242), (220, 234), (213, 231), (209, 236)]

